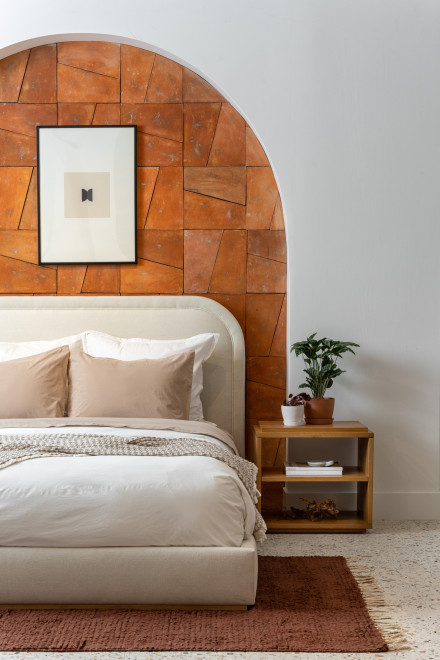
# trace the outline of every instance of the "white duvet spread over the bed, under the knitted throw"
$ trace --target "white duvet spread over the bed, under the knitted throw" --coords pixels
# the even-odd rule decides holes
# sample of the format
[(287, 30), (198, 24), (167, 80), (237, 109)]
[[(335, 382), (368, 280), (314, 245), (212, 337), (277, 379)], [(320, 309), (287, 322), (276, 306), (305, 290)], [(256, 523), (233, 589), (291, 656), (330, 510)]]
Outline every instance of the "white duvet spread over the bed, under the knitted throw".
[[(3, 428), (2, 434), (41, 432)], [(139, 428), (73, 427), (110, 435)], [(45, 433), (59, 429), (45, 429)], [(206, 435), (148, 431), (158, 437)], [(68, 456), (0, 470), (0, 545), (42, 547), (240, 546), (255, 506), (235, 470), (209, 457)]]

